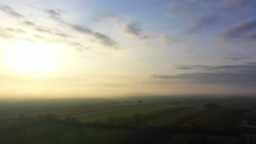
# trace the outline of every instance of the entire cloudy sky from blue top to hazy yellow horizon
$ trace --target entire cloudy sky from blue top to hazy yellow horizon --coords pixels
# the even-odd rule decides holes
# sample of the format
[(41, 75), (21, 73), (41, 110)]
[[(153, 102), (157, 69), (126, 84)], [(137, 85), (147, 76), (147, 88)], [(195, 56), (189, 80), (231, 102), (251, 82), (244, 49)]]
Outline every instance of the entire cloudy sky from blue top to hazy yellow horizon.
[(255, 0), (0, 0), (0, 98), (256, 94)]

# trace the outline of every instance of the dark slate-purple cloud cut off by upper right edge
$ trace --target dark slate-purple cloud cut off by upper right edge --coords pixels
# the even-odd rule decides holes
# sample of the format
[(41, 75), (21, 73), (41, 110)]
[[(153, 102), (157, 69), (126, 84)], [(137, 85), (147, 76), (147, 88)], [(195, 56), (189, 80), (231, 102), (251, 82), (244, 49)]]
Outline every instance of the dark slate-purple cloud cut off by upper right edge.
[(234, 40), (241, 38), (253, 39), (253, 32), (256, 33), (256, 19), (247, 19), (242, 22), (236, 23), (223, 31), (220, 34), (220, 38), (224, 40)]

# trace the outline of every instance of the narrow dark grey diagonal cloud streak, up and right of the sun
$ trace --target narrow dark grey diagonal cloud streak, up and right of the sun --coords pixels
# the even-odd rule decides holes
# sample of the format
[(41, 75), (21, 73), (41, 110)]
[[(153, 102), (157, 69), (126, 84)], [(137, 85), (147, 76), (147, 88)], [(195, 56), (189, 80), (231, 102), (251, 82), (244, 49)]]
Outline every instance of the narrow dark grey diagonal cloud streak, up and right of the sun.
[(69, 26), (71, 26), (71, 28), (73, 28), (75, 31), (77, 31), (79, 33), (91, 35), (103, 46), (108, 46), (108, 47), (112, 47), (114, 49), (118, 49), (118, 43), (106, 34), (94, 32), (91, 29), (84, 28), (80, 25), (69, 25)]

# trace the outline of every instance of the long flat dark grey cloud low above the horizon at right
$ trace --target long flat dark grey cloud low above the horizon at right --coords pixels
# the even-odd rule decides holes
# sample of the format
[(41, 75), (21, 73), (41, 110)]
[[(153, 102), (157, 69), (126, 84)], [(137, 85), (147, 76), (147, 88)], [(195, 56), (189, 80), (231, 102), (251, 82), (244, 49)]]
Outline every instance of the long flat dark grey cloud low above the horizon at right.
[[(232, 69), (232, 71), (230, 71)], [(211, 71), (211, 70), (216, 70)], [(222, 70), (222, 71), (219, 71)], [(178, 75), (153, 74), (154, 79), (178, 79), (198, 83), (217, 83), (225, 85), (256, 85), (256, 65), (223, 65), (211, 67), (205, 73), (184, 73)]]

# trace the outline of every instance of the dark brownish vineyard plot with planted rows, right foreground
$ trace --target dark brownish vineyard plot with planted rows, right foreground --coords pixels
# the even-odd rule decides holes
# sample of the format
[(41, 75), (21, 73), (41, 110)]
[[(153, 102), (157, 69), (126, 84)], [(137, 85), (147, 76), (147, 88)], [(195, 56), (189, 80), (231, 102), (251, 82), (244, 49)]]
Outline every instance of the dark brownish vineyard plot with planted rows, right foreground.
[(248, 110), (207, 109), (166, 124), (177, 130), (208, 131), (210, 133), (237, 134), (243, 116)]

